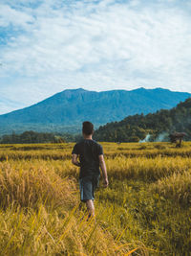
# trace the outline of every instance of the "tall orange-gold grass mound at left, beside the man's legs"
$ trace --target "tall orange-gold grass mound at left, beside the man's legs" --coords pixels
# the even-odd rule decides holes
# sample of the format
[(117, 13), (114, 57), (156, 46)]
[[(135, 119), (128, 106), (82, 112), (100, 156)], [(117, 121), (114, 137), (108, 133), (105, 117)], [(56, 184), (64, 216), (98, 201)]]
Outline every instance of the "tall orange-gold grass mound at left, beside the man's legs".
[[(76, 202), (73, 179), (63, 179), (48, 168), (14, 169), (10, 163), (0, 163), (0, 201), (3, 207), (11, 202), (35, 208), (39, 202), (56, 207)], [(68, 191), (71, 191), (69, 195)]]

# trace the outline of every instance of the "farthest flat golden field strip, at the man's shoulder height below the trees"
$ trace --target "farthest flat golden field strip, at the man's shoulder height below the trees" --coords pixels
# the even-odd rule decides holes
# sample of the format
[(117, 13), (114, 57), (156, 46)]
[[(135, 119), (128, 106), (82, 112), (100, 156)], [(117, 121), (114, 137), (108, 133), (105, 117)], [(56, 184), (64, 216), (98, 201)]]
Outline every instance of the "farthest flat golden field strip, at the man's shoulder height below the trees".
[[(178, 149), (170, 143), (101, 143), (106, 158), (124, 157), (191, 157), (191, 144), (184, 142), (183, 147)], [(23, 144), (23, 145), (0, 145), (0, 161), (13, 160), (66, 160), (71, 159), (74, 143), (63, 144)]]

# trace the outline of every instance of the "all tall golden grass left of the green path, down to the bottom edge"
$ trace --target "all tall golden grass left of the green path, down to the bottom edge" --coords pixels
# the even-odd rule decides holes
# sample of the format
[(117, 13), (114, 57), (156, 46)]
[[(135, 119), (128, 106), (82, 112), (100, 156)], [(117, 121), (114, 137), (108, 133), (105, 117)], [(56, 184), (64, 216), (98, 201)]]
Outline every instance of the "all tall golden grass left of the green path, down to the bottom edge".
[(132, 249), (115, 242), (99, 222), (86, 221), (76, 180), (57, 175), (53, 166), (0, 163), (0, 202), (1, 255), (116, 255)]

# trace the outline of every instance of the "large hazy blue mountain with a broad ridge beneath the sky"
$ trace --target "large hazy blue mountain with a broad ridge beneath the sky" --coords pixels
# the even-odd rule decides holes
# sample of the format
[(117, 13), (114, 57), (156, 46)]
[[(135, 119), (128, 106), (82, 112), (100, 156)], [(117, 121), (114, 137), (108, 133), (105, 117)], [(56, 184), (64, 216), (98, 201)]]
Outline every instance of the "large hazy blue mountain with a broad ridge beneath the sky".
[(81, 88), (64, 90), (35, 105), (0, 115), (0, 133), (26, 129), (76, 132), (84, 120), (98, 127), (136, 113), (169, 109), (188, 97), (189, 93), (161, 88), (102, 92)]

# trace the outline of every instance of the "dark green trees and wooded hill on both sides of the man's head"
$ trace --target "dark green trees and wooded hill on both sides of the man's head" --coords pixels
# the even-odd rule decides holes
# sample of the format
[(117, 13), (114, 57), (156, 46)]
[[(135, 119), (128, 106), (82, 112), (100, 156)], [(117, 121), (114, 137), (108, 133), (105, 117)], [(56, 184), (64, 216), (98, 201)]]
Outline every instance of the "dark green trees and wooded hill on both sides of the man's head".
[[(185, 140), (191, 140), (191, 98), (176, 107), (161, 109), (147, 115), (128, 116), (120, 122), (108, 123), (96, 129), (94, 138), (108, 142), (169, 141), (169, 134), (175, 131), (186, 133)], [(35, 129), (35, 128), (34, 128)], [(53, 130), (53, 129), (51, 129)], [(3, 135), (1, 144), (16, 143), (62, 143), (81, 138), (79, 130), (69, 133), (35, 132), (27, 130), (21, 134)], [(160, 147), (160, 146), (159, 146)]]

